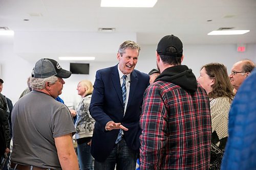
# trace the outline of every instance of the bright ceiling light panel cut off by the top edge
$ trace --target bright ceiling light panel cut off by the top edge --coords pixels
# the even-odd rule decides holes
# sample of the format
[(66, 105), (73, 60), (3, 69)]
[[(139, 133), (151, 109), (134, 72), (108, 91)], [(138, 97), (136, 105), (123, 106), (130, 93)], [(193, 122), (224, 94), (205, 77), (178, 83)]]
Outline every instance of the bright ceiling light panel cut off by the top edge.
[(100, 7), (144, 7), (152, 8), (157, 0), (101, 0)]

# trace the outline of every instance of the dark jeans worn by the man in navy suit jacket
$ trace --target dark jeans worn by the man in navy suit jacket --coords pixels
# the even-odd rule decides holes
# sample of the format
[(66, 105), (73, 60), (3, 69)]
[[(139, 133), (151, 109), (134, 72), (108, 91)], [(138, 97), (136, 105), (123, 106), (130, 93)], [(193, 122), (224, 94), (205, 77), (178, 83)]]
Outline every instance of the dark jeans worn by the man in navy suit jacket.
[(95, 170), (134, 170), (138, 153), (127, 147), (125, 140), (119, 141), (104, 162), (94, 161)]

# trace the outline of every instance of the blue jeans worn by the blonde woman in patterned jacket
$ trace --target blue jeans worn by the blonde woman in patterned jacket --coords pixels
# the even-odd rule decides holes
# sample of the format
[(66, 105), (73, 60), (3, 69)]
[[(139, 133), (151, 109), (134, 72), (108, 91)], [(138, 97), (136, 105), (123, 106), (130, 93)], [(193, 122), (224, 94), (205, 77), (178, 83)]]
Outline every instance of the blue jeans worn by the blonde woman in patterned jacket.
[(86, 143), (77, 144), (77, 155), (80, 170), (93, 170), (93, 157), (91, 147)]

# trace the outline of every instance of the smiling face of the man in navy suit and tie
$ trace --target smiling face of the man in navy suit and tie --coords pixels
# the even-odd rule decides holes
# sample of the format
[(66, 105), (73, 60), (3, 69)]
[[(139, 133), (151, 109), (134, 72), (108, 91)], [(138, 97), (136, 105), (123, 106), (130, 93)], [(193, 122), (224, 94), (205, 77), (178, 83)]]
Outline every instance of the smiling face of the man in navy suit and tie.
[(119, 69), (124, 75), (128, 75), (133, 72), (137, 61), (139, 52), (137, 49), (126, 48), (123, 55), (117, 53), (117, 59), (119, 61)]

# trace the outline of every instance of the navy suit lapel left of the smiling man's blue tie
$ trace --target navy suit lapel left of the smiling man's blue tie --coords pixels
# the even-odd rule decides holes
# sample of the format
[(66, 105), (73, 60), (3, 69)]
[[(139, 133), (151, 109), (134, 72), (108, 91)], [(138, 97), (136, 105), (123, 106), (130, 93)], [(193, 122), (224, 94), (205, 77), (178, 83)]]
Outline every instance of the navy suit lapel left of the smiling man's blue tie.
[(112, 70), (111, 70), (111, 80), (112, 80), (113, 85), (114, 85), (114, 87), (116, 89), (116, 93), (118, 95), (118, 98), (119, 98), (121, 104), (123, 104), (122, 90), (121, 90), (121, 84), (120, 84), (120, 78), (119, 78), (119, 73), (118, 73), (117, 65), (112, 67)]

